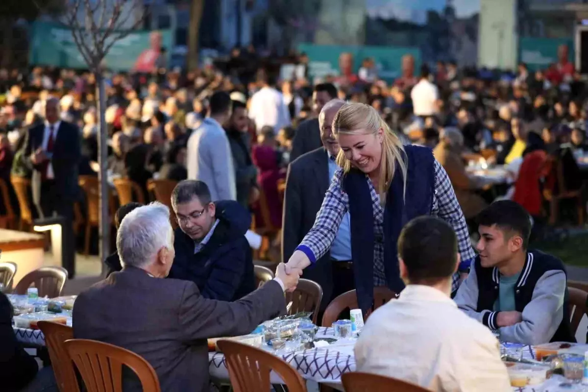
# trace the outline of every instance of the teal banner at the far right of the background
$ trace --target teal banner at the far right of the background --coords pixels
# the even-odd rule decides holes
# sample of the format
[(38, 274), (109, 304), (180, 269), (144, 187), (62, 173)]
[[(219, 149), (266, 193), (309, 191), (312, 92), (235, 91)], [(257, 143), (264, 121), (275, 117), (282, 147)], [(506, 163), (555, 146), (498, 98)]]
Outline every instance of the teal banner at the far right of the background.
[(532, 38), (521, 37), (519, 42), (519, 61), (524, 62), (530, 71), (546, 69), (557, 62), (557, 48), (567, 45), (569, 61), (574, 62), (573, 38)]

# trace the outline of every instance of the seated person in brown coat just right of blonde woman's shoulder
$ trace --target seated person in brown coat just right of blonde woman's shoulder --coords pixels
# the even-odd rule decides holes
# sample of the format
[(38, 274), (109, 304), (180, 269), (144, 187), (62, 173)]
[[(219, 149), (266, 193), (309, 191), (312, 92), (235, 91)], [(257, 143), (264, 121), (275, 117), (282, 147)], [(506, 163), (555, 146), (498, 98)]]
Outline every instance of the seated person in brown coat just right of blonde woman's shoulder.
[(461, 156), (463, 150), (463, 134), (457, 128), (445, 128), (440, 132), (439, 144), (433, 149), (437, 162), (447, 172), (455, 196), (462, 207), (466, 219), (473, 219), (487, 206), (480, 195), (475, 193), (483, 185), (475, 176), (466, 172), (466, 166)]

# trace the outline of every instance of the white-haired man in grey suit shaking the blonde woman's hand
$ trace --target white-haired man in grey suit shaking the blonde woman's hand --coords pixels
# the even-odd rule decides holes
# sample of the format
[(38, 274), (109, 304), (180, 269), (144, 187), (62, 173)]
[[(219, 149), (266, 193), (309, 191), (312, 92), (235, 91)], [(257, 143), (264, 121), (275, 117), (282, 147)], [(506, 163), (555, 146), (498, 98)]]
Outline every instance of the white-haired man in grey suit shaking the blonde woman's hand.
[[(155, 202), (129, 212), (116, 234), (123, 269), (79, 294), (74, 336), (139, 354), (157, 373), (162, 391), (209, 389), (206, 339), (250, 333), (286, 311), (284, 291), (298, 274), (278, 266), (276, 278), (236, 302), (204, 299), (195, 283), (162, 279), (173, 263), (169, 209)], [(124, 374), (124, 390), (141, 390)]]

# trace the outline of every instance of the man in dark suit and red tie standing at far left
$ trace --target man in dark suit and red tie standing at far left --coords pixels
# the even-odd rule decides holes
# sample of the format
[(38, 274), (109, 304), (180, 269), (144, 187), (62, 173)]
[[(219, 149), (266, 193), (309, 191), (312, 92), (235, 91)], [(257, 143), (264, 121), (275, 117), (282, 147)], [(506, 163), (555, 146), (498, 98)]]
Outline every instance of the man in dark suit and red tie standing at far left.
[[(39, 217), (64, 217), (63, 235), (73, 239), (74, 203), (80, 195), (80, 132), (75, 125), (59, 119), (58, 99), (46, 100), (44, 111), (45, 122), (27, 130), (19, 156), (22, 165), (32, 170), (33, 202)], [(75, 274), (75, 246), (65, 248), (64, 267), (71, 278)]]

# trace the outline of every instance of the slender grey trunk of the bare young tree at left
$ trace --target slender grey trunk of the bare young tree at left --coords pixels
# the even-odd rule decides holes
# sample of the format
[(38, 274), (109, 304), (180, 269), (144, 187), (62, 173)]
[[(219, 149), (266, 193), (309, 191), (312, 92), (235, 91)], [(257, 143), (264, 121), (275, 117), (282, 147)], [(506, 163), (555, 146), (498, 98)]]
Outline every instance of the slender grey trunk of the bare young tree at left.
[(106, 93), (101, 71), (96, 77), (96, 101), (98, 103), (98, 172), (100, 225), (98, 226), (98, 254), (102, 262), (102, 276), (106, 276), (106, 256), (110, 253), (110, 216), (108, 211), (109, 185), (107, 180), (108, 145), (106, 130)]

